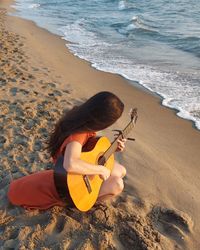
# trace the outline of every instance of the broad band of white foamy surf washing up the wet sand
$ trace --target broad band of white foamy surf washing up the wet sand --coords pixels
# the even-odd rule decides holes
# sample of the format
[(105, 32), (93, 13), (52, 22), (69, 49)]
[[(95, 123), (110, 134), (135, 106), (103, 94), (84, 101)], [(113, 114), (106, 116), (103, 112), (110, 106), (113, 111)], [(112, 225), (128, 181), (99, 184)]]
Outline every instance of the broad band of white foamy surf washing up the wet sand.
[[(88, 36), (88, 33), (85, 35)], [(91, 34), (89, 36), (91, 37)], [(196, 128), (200, 130), (200, 88), (198, 84), (195, 89), (193, 85), (188, 85), (192, 79), (178, 73), (162, 72), (147, 65), (133, 64), (132, 61), (122, 57), (111, 56), (108, 51), (113, 50), (112, 45), (98, 42), (97, 37), (93, 35), (92, 39), (93, 49), (90, 45), (88, 46), (86, 40), (84, 44), (82, 42), (81, 44), (72, 43), (67, 44), (67, 47), (76, 56), (90, 61), (94, 68), (120, 74), (126, 79), (138, 82), (149, 91), (157, 93), (163, 98), (163, 106), (175, 109), (179, 117), (193, 121)]]

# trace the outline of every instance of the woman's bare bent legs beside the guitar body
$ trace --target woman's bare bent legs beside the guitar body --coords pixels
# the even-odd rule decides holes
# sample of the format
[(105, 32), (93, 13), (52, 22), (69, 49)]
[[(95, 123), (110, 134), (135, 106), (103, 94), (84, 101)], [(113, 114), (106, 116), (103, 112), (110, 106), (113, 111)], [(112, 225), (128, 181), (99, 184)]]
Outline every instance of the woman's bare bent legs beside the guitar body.
[(113, 196), (119, 195), (124, 189), (123, 177), (126, 175), (126, 169), (118, 162), (114, 163), (110, 177), (103, 182), (98, 201), (107, 200)]

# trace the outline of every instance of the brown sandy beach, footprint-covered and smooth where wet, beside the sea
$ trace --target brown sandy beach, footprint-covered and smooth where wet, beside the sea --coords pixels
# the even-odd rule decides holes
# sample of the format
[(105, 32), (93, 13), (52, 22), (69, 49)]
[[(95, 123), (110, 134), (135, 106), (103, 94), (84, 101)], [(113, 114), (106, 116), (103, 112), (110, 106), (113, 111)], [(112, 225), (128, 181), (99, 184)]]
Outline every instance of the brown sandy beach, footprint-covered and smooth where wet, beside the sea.
[[(199, 249), (200, 132), (161, 99), (70, 54), (65, 41), (33, 22), (8, 16), (0, 3), (0, 249)], [(116, 158), (127, 168), (125, 190), (87, 213), (12, 206), (16, 179), (52, 168), (44, 150), (63, 112), (108, 90), (126, 109), (115, 125), (138, 122)]]

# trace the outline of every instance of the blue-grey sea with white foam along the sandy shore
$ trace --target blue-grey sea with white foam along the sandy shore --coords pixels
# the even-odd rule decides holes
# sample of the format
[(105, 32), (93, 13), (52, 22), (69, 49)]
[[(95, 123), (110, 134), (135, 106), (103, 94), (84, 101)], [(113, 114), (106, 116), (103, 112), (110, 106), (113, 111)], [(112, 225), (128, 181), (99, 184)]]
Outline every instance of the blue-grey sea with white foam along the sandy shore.
[(199, 0), (17, 0), (14, 7), (70, 41), (73, 54), (159, 94), (200, 129)]

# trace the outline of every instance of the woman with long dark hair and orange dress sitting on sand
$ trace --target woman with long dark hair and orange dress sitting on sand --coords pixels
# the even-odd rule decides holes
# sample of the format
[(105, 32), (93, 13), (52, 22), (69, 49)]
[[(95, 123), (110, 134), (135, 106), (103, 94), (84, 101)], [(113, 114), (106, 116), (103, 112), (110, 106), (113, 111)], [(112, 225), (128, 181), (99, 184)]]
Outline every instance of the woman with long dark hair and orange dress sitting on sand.
[[(80, 159), (82, 147), (97, 131), (111, 126), (121, 116), (124, 104), (110, 92), (100, 92), (82, 105), (73, 108), (57, 122), (50, 136), (48, 149), (56, 163), (64, 155), (63, 167), (69, 173), (99, 175), (103, 183), (98, 200), (116, 196), (123, 190), (125, 168), (115, 162), (112, 172), (103, 165), (89, 164)], [(124, 149), (125, 139), (118, 141), (117, 151)], [(66, 186), (67, 188), (67, 186)], [(54, 182), (54, 171), (44, 170), (13, 180), (8, 198), (14, 205), (26, 209), (45, 210), (53, 206), (66, 206)]]

